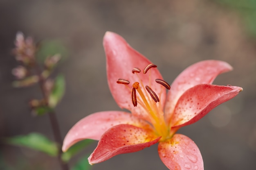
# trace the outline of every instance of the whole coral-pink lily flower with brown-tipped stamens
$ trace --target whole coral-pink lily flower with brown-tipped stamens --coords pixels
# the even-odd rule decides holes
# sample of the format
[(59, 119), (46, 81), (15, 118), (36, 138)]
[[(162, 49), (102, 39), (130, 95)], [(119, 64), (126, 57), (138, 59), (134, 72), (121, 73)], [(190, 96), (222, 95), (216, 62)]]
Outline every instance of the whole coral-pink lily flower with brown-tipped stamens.
[(224, 61), (201, 61), (186, 68), (170, 86), (157, 66), (131, 48), (121, 36), (107, 32), (103, 46), (112, 96), (119, 107), (131, 113), (102, 111), (86, 116), (67, 133), (62, 150), (83, 139), (99, 140), (88, 158), (89, 163), (94, 164), (158, 142), (159, 157), (170, 170), (203, 170), (203, 159), (196, 144), (176, 132), (243, 90), (211, 84), (218, 74), (232, 67)]

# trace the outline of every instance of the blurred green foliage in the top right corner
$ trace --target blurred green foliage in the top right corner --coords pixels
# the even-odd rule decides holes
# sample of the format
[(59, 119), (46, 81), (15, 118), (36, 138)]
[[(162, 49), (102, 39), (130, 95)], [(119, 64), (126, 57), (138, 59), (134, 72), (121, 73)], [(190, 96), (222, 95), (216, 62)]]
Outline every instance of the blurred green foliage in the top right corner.
[(237, 11), (249, 35), (256, 38), (256, 0), (215, 0), (225, 7)]

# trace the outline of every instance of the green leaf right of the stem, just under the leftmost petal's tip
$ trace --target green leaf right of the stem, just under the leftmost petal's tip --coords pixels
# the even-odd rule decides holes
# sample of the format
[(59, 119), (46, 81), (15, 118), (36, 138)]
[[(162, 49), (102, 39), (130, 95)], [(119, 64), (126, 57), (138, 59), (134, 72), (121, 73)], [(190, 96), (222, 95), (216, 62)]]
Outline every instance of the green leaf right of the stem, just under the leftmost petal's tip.
[(81, 150), (83, 150), (86, 146), (88, 146), (92, 142), (94, 142), (94, 140), (92, 140), (92, 139), (85, 139), (85, 140), (82, 140), (82, 141), (74, 144), (72, 147), (70, 147), (67, 150), (67, 152), (65, 152), (65, 153), (63, 153), (61, 155), (61, 159), (64, 162), (68, 162), (74, 155), (79, 153)]

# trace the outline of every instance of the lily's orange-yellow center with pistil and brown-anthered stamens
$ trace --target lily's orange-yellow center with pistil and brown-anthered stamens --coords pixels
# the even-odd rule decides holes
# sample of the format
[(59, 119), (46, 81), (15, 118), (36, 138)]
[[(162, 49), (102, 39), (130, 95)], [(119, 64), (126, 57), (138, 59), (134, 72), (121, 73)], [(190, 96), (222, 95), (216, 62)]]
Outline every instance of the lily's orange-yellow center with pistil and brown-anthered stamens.
[[(157, 66), (154, 64), (149, 64), (144, 69), (143, 73), (146, 74), (148, 71), (150, 72), (150, 68), (156, 68)], [(139, 68), (132, 69), (133, 74), (137, 74), (139, 77), (139, 74), (141, 70)], [(150, 76), (149, 76), (150, 78)], [(131, 98), (132, 98), (132, 104), (134, 107), (137, 107), (137, 105), (140, 105), (148, 114), (148, 118), (150, 120), (150, 123), (154, 126), (155, 133), (158, 136), (162, 136), (161, 141), (165, 140), (169, 137), (169, 128), (166, 125), (165, 119), (164, 119), (164, 112), (162, 109), (162, 105), (160, 105), (160, 100), (157, 94), (151, 89), (148, 85), (144, 86), (143, 82), (141, 81), (141, 78), (139, 78), (139, 82), (135, 82), (132, 84), (132, 90), (131, 90)], [(156, 83), (159, 83), (160, 85), (166, 87), (166, 89), (170, 89), (170, 85), (162, 80), (162, 79), (155, 79)], [(130, 82), (128, 80), (119, 78), (117, 83), (124, 84), (128, 86)], [(128, 87), (129, 88), (129, 87)], [(129, 88), (130, 89), (130, 88)], [(139, 94), (137, 96), (137, 93)], [(162, 89), (161, 89), (162, 93)], [(161, 93), (159, 95), (161, 95)]]

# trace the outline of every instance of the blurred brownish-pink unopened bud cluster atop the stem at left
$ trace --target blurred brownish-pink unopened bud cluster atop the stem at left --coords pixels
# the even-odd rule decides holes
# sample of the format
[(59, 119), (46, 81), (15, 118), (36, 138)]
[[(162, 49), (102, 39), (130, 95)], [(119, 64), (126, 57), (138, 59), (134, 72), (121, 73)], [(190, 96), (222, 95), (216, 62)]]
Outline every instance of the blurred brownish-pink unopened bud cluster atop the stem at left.
[(26, 87), (39, 83), (44, 94), (43, 99), (33, 99), (29, 102), (29, 105), (32, 110), (38, 107), (46, 107), (49, 94), (54, 86), (54, 81), (49, 76), (61, 59), (60, 54), (48, 56), (44, 63), (39, 65), (36, 54), (40, 47), (34, 43), (32, 37), (25, 38), (23, 33), (18, 32), (14, 44), (13, 53), (20, 65), (12, 70), (12, 74), (18, 79), (13, 82), (13, 86)]

